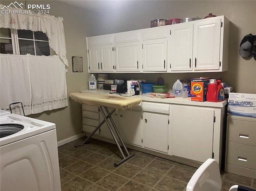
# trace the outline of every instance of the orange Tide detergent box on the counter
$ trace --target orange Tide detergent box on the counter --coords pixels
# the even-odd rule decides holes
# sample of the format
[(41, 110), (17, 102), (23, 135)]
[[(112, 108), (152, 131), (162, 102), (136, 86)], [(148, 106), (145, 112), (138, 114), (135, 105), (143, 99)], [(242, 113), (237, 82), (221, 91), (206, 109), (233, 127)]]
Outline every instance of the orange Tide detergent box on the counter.
[(212, 78), (191, 79), (191, 101), (206, 101), (206, 93), (209, 81)]

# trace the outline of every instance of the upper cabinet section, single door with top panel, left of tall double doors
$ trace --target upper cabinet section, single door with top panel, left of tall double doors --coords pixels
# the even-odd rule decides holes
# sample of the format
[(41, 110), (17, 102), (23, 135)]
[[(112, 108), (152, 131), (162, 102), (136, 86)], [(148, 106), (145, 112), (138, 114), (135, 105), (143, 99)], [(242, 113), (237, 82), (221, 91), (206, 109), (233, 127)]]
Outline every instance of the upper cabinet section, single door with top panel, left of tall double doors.
[(167, 71), (167, 27), (142, 29), (141, 62), (144, 72)]

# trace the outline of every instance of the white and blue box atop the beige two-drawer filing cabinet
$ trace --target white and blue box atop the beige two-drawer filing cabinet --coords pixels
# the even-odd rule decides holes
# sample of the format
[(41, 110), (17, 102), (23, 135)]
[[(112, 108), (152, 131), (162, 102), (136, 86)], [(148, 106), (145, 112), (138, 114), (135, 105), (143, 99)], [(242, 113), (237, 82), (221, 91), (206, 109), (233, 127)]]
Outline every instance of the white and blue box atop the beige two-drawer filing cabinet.
[(256, 117), (256, 94), (229, 93), (228, 114)]

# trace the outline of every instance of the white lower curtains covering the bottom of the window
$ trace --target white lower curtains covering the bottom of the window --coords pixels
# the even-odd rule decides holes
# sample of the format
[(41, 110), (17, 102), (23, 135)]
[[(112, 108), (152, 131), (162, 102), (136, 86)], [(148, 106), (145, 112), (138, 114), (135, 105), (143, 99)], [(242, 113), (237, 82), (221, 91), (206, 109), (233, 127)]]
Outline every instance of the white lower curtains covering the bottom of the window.
[[(25, 115), (68, 106), (65, 65), (55, 56), (0, 54), (0, 108)], [(20, 104), (12, 112), (22, 114)]]

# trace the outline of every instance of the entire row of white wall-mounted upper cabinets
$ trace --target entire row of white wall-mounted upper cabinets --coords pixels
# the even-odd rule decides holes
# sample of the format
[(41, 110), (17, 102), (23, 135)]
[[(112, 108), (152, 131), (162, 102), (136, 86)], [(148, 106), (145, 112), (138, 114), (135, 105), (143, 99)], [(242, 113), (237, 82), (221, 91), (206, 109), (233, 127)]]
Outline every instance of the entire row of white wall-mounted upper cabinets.
[(229, 20), (186, 23), (87, 37), (89, 72), (197, 73), (228, 70)]

